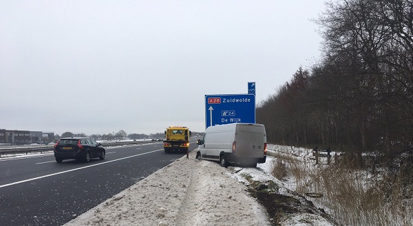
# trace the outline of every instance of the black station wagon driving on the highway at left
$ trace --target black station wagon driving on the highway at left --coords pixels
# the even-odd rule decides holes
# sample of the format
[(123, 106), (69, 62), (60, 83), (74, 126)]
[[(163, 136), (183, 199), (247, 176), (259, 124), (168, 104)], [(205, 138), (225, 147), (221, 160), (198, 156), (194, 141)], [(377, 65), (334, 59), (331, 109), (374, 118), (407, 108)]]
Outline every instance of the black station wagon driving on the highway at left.
[(105, 155), (105, 148), (89, 137), (61, 138), (54, 145), (54, 157), (58, 163), (63, 159), (89, 162), (91, 158), (105, 159)]

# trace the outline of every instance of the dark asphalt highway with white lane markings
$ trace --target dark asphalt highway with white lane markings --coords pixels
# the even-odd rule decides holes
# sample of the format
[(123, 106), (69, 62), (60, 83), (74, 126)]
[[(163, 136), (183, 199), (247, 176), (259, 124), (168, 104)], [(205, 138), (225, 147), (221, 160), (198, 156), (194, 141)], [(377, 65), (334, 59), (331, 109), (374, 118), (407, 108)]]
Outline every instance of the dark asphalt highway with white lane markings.
[(56, 163), (53, 155), (0, 159), (0, 225), (62, 225), (184, 156), (165, 154), (162, 143), (106, 152), (89, 163)]

